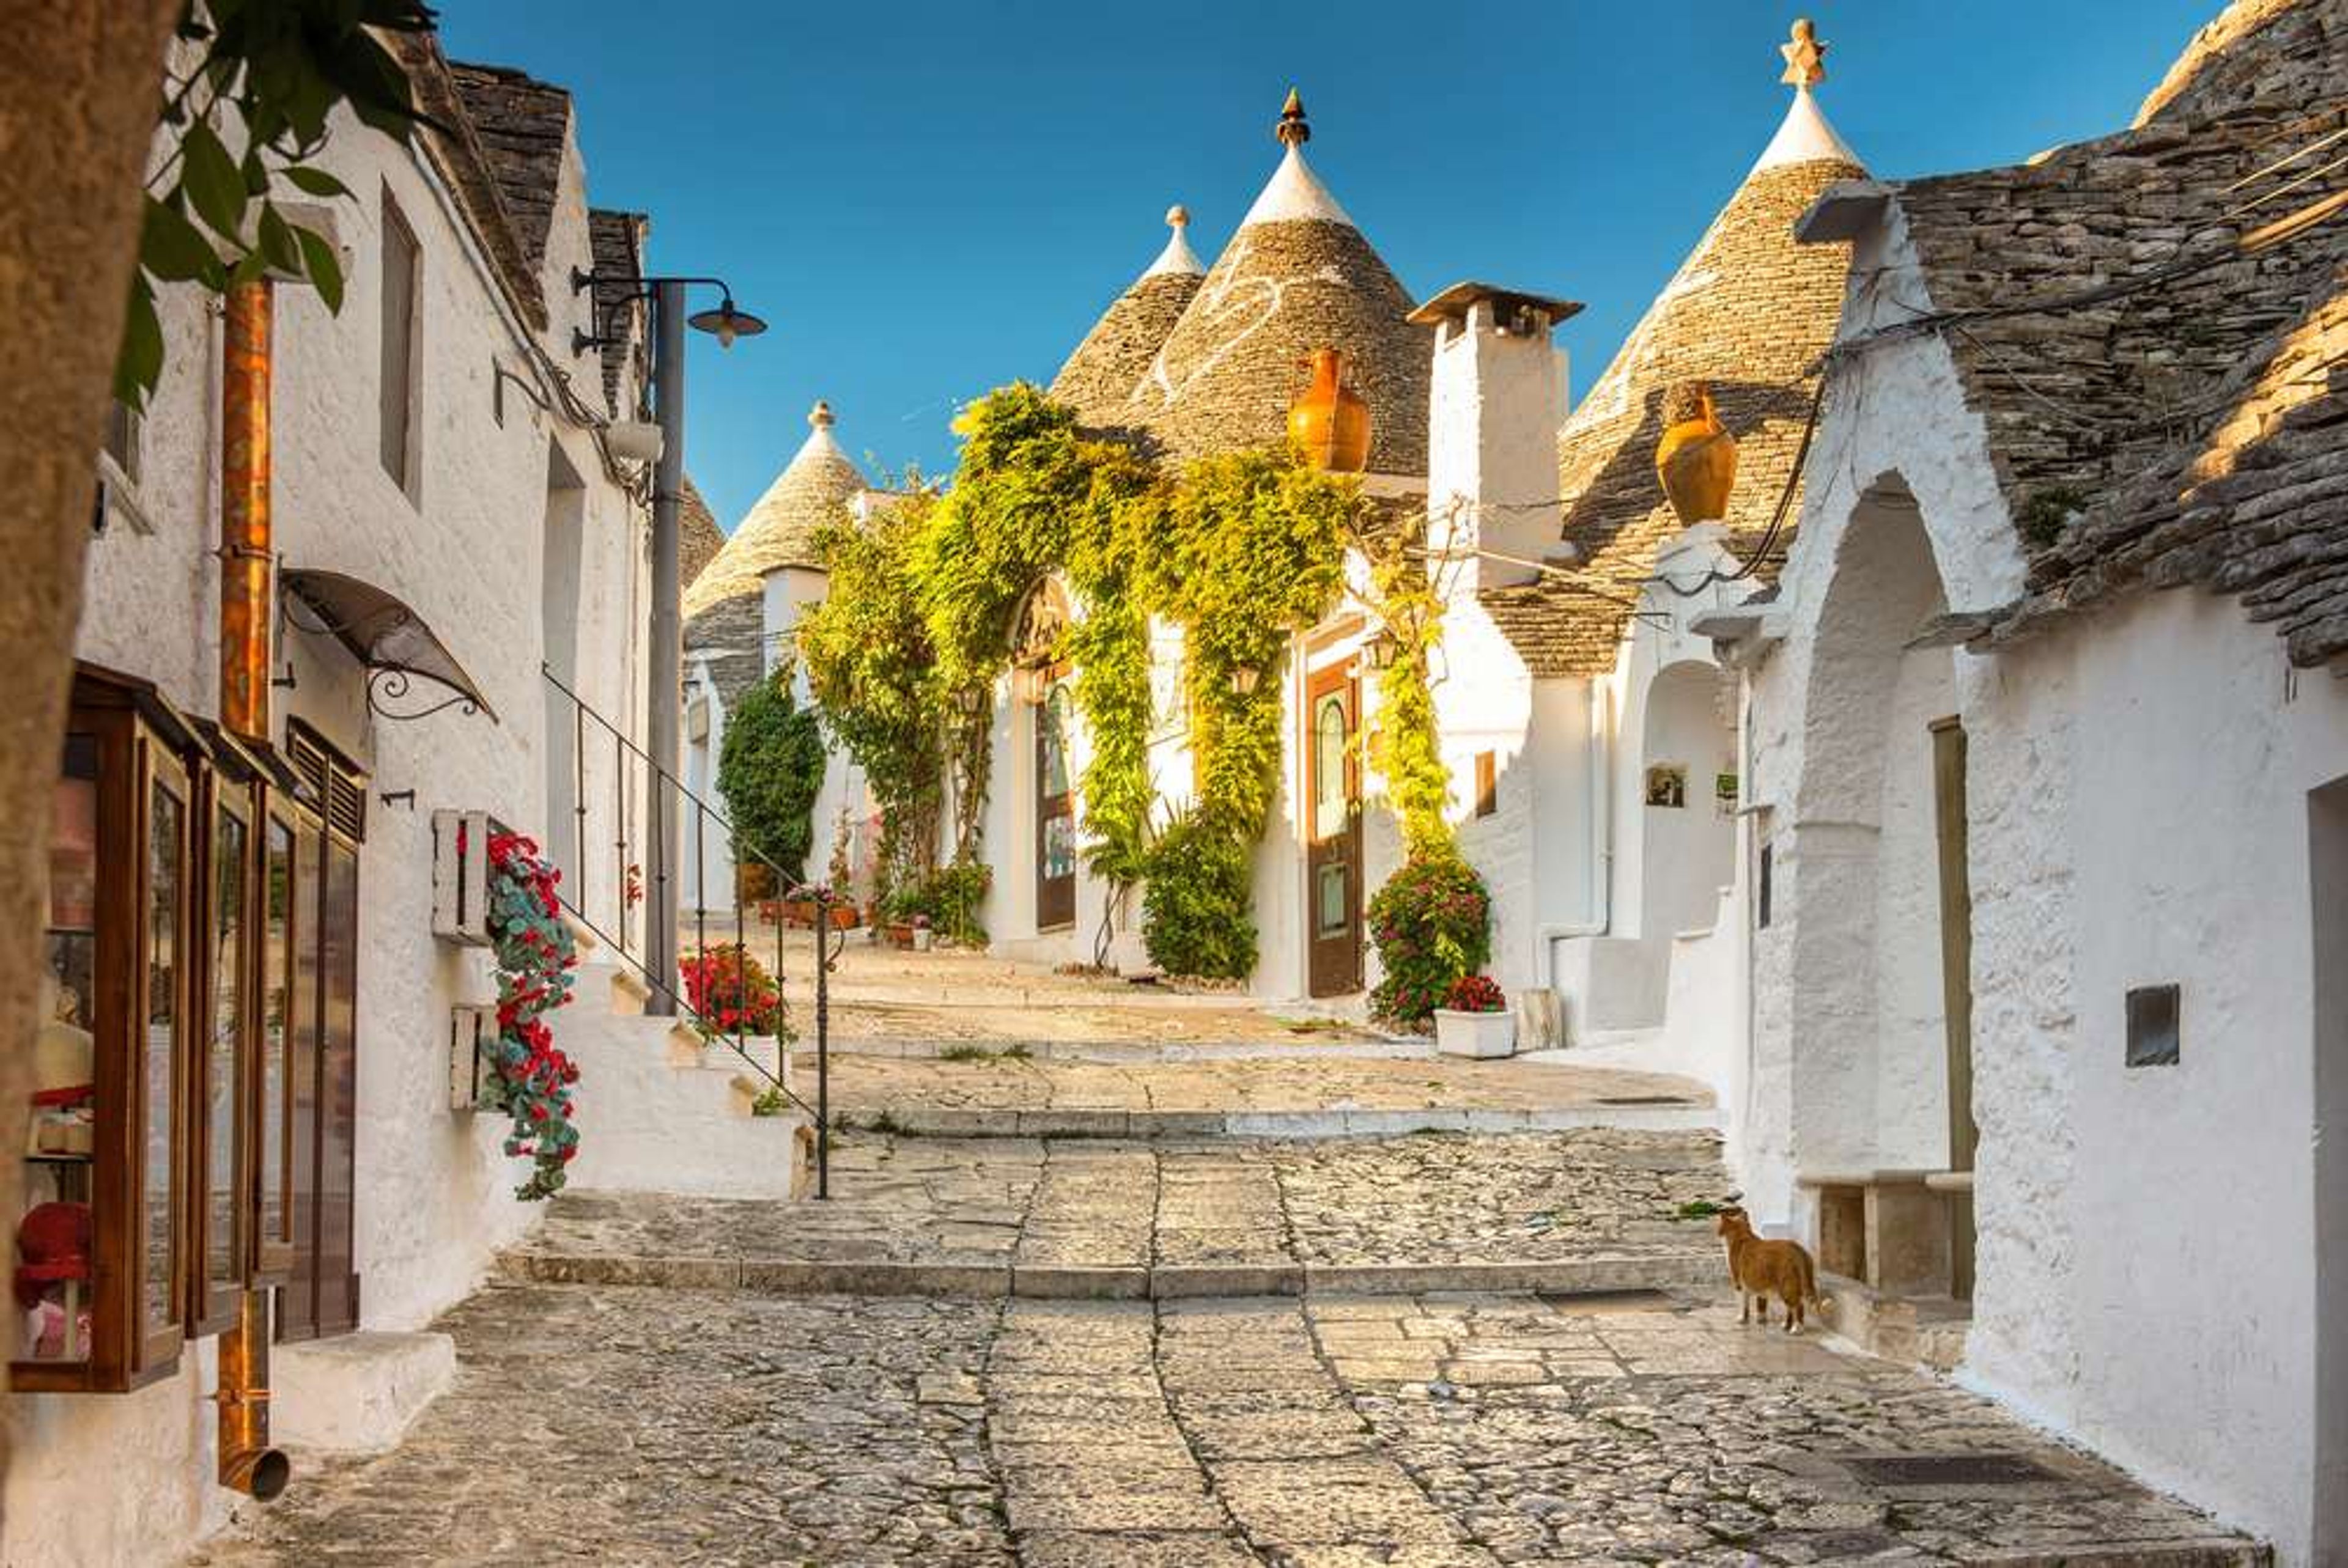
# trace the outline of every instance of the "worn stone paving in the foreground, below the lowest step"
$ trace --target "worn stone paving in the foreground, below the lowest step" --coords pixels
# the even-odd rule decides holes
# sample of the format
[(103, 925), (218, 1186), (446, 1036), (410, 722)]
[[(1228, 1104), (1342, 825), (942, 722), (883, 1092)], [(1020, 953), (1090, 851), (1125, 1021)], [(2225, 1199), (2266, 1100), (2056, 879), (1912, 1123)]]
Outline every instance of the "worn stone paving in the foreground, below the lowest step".
[(399, 1451), (296, 1455), (195, 1563), (2263, 1561), (1979, 1397), (1716, 1298), (493, 1286), (441, 1326), (456, 1387)]

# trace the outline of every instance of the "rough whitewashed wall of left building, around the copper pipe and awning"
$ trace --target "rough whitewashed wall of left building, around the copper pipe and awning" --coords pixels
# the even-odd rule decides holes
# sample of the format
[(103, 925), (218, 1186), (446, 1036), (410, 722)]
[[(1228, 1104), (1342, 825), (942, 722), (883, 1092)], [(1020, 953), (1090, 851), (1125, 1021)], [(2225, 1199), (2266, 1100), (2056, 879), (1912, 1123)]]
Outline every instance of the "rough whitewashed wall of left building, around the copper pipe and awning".
[[(430, 937), (430, 815), (488, 810), (547, 829), (540, 685), (549, 446), (585, 477), (578, 509), (578, 650), (582, 690), (613, 714), (641, 711), (643, 523), (603, 479), (592, 441), (507, 387), (526, 326), (507, 310), (437, 176), (409, 153), (336, 127), (319, 160), (352, 192), (336, 202), (348, 272), (340, 315), (301, 286), (277, 289), (275, 526), (282, 566), (364, 577), (413, 606), (495, 709), (418, 723), (371, 716), (364, 681), (329, 638), (279, 629), (277, 739), (301, 716), (369, 765), (369, 833), (359, 861), (357, 998), (357, 1268), (369, 1329), (413, 1329), (465, 1296), (493, 1251), (535, 1209), (512, 1199), (517, 1167), (484, 1117), (446, 1110), (448, 1007), (479, 995), (481, 974)], [(380, 202), (397, 202), (423, 251), (420, 484), (411, 500), (378, 460)], [(575, 153), (564, 207), (580, 202)], [(585, 218), (549, 235), (547, 275), (587, 265)], [(556, 322), (542, 343), (568, 359), (568, 284), (549, 286)], [(218, 714), (218, 307), (188, 291), (162, 305), (169, 371), (146, 423), (136, 512), (96, 540), (77, 653), (153, 678), (193, 714)], [(592, 359), (578, 385), (596, 387)], [(526, 371), (524, 371), (526, 373)], [(599, 401), (599, 397), (596, 397)], [(301, 610), (296, 608), (298, 617)], [(437, 699), (418, 683), (411, 704)], [(373, 791), (416, 789), (413, 807)], [(589, 791), (599, 793), (599, 791)], [(601, 829), (596, 829), (601, 831)], [(561, 1035), (561, 1019), (554, 1021)], [(594, 1084), (582, 1084), (592, 1115)], [(582, 1117), (587, 1120), (587, 1117)], [(176, 1378), (131, 1397), (19, 1397), (7, 1479), (5, 1561), (169, 1561), (216, 1526), (230, 1493), (211, 1483), (214, 1347), (193, 1345)], [(136, 1486), (122, 1476), (136, 1474)], [(296, 1474), (296, 1486), (301, 1476)]]

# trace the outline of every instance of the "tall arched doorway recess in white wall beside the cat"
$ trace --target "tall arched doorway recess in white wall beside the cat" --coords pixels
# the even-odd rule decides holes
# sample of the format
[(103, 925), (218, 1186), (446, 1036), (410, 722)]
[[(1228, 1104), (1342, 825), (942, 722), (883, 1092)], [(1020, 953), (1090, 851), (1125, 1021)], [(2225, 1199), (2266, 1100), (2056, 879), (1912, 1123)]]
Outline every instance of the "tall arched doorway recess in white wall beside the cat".
[(1965, 732), (1956, 655), (1921, 636), (1944, 608), (1923, 514), (1885, 477), (1843, 530), (1803, 697), (1794, 1138), (1806, 1174), (1869, 1176), (1822, 1192), (1829, 1251), (1836, 1204), (1864, 1199), (1876, 1284), (1970, 1296)]

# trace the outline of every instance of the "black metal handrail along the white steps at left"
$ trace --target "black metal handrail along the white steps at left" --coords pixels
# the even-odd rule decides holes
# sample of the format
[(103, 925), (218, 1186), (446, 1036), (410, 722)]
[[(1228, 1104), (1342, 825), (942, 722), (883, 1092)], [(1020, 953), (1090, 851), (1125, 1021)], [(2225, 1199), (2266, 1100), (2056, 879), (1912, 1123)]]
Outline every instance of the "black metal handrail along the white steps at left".
[[(681, 1012), (693, 1023), (695, 1033), (700, 1033), (704, 1040), (716, 1040), (716, 1042), (726, 1045), (728, 1049), (733, 1049), (733, 1054), (740, 1056), (749, 1068), (754, 1068), (758, 1073), (758, 1077), (763, 1077), (768, 1084), (772, 1084), (775, 1091), (780, 1091), (784, 1099), (789, 1099), (794, 1106), (798, 1106), (801, 1110), (805, 1110), (815, 1120), (815, 1183), (817, 1183), (817, 1197), (829, 1197), (831, 1195), (831, 1127), (829, 1127), (829, 1115), (826, 1113), (831, 1108), (831, 1040), (829, 1040), (829, 1035), (831, 1035), (831, 1019), (829, 1019), (829, 1007), (826, 1007), (826, 1000), (829, 1000), (826, 991), (829, 988), (824, 986), (824, 981), (826, 981), (826, 976), (831, 972), (831, 965), (838, 958), (838, 948), (831, 944), (831, 908), (836, 904), (831, 890), (826, 890), (826, 887), (805, 887), (805, 885), (794, 883), (782, 871), (782, 866), (777, 866), (775, 861), (770, 861), (765, 854), (758, 854), (758, 850), (754, 850), (751, 845), (744, 845), (742, 836), (735, 831), (733, 822), (728, 822), (723, 812), (718, 812), (714, 805), (709, 805), (702, 796), (697, 796), (690, 786), (686, 786), (683, 779), (679, 779), (660, 761), (655, 761), (643, 746), (639, 746), (618, 725), (613, 725), (608, 718), (603, 718), (603, 714), (599, 714), (585, 697), (580, 697), (575, 690), (571, 690), (561, 681), (561, 676), (556, 676), (545, 664), (540, 664), (540, 674), (545, 676), (547, 685), (554, 692), (559, 692), (571, 704), (571, 751), (573, 751), (573, 756), (571, 756), (571, 768), (573, 768), (571, 864), (564, 866), (566, 876), (556, 883), (556, 897), (561, 899), (564, 908), (571, 911), (571, 915), (580, 925), (585, 925), (589, 934), (596, 937), (596, 941), (601, 941), (606, 948), (610, 948), (636, 976), (643, 979), (646, 986), (650, 986), (657, 995), (667, 998), (669, 1007), (674, 1007), (676, 1012)], [(603, 735), (603, 737), (610, 739), (610, 758), (613, 758), (613, 770), (610, 770), (613, 772), (613, 843), (610, 843), (610, 847), (613, 847), (613, 876), (610, 876), (610, 901), (613, 901), (615, 911), (613, 911), (608, 925), (603, 920), (599, 920), (592, 913), (592, 908), (589, 908), (594, 904), (594, 887), (589, 883), (589, 864), (592, 864), (592, 859), (587, 854), (587, 831), (589, 831), (587, 829), (587, 819), (589, 819), (589, 805), (587, 805), (587, 737), (589, 737), (589, 728), (587, 725), (589, 725), (589, 721), (596, 725), (599, 735)], [(552, 728), (554, 725), (549, 721), (549, 730)], [(707, 885), (704, 883), (707, 883), (707, 871), (709, 871), (707, 838), (709, 838), (709, 824), (711, 822), (726, 833), (726, 840), (733, 847), (733, 861), (735, 861), (735, 866), (740, 866), (742, 861), (756, 861), (756, 864), (765, 866), (768, 873), (775, 878), (777, 899), (789, 897), (789, 899), (805, 899), (805, 901), (815, 904), (815, 960), (817, 960), (817, 972), (815, 972), (815, 986), (817, 986), (817, 1005), (815, 1005), (815, 1082), (817, 1082), (817, 1099), (815, 1099), (812, 1106), (805, 1101), (805, 1096), (801, 1096), (796, 1089), (791, 1089), (787, 1082), (782, 1082), (782, 1073), (780, 1070), (768, 1070), (765, 1063), (761, 1063), (756, 1056), (749, 1054), (749, 1016), (747, 1016), (747, 1012), (737, 1014), (735, 1023), (728, 1030), (728, 1026), (723, 1026), (716, 1019), (709, 1019), (707, 1014), (702, 1014), (702, 1009), (697, 1009), (693, 1005), (693, 1000), (688, 995), (683, 995), (681, 986), (676, 984), (676, 976), (653, 974), (650, 965), (629, 948), (629, 937), (627, 937), (629, 908), (636, 901), (643, 901), (643, 899), (669, 899), (669, 897), (676, 897), (669, 890), (669, 869), (667, 866), (660, 866), (655, 871), (653, 887), (641, 887), (639, 883), (632, 880), (634, 873), (636, 873), (636, 864), (629, 859), (629, 850), (632, 850), (632, 843), (634, 843), (629, 838), (629, 826), (634, 822), (632, 796), (629, 796), (629, 775), (636, 768), (641, 768), (646, 777), (641, 782), (641, 793), (634, 796), (634, 805), (641, 807), (641, 810), (646, 810), (650, 815), (650, 819), (653, 819), (650, 822), (650, 836), (653, 836), (655, 843), (660, 840), (662, 815), (667, 810), (676, 810), (679, 819), (683, 819), (683, 815), (690, 812), (690, 822), (693, 822), (690, 840), (693, 840), (693, 866), (695, 866), (695, 899), (693, 899), (693, 904), (695, 904), (695, 908), (693, 908), (693, 925), (695, 925), (695, 946), (693, 946), (693, 951), (695, 951), (695, 958), (702, 958), (702, 955), (709, 953), (709, 899), (707, 899)], [(554, 854), (554, 850), (556, 847), (549, 845), (549, 854)], [(559, 866), (564, 864), (559, 854), (554, 854), (554, 859), (556, 859)], [(749, 918), (751, 913), (756, 913), (756, 911), (744, 911), (744, 904), (742, 904), (742, 878), (735, 876), (733, 878), (733, 944), (735, 944), (735, 948), (744, 958), (751, 955), (751, 918)], [(782, 995), (784, 995), (784, 946), (782, 946), (784, 920), (782, 920), (780, 913), (775, 915), (772, 927), (775, 927), (775, 995), (777, 995), (777, 1005), (782, 1005)], [(737, 969), (737, 984), (740, 984), (740, 969)], [(777, 1035), (775, 1038), (775, 1052), (777, 1052), (777, 1063), (775, 1066), (777, 1068), (782, 1068), (784, 1061), (789, 1059), (789, 1049), (791, 1049), (789, 1042), (782, 1035)]]

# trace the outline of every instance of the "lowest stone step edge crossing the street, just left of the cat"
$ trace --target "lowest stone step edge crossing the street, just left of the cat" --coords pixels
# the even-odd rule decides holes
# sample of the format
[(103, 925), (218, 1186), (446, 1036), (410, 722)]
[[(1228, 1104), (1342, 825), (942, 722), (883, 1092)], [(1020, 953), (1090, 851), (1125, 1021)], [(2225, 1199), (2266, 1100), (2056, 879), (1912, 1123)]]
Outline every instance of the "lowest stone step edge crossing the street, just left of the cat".
[(639, 1258), (517, 1246), (498, 1258), (517, 1284), (634, 1284), (758, 1296), (949, 1296), (970, 1300), (1193, 1300), (1226, 1296), (1425, 1296), (1430, 1291), (1613, 1296), (1712, 1291), (1721, 1261), (1583, 1256), (1540, 1263), (902, 1263), (834, 1258)]

